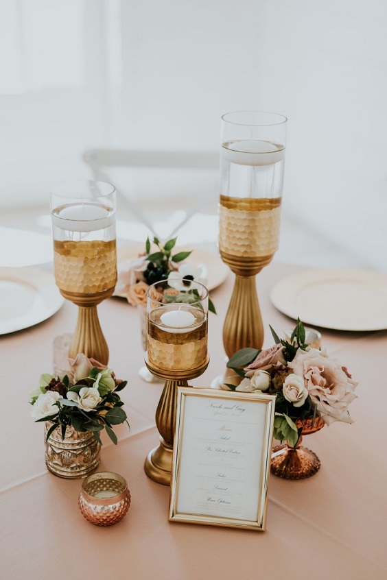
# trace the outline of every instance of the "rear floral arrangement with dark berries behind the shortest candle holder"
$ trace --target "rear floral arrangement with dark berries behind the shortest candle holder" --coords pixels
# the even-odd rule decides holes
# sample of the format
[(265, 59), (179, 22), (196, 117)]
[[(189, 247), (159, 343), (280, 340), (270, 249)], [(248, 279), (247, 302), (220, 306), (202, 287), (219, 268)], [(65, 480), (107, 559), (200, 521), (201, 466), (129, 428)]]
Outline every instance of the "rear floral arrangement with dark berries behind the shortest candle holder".
[[(206, 286), (207, 280), (202, 278), (201, 269), (184, 262), (192, 250), (172, 255), (176, 240), (177, 238), (170, 239), (163, 245), (154, 237), (152, 243), (156, 245), (157, 250), (151, 252), (152, 245), (148, 237), (145, 242), (145, 253), (126, 265), (124, 271), (119, 272), (115, 293), (126, 295), (129, 304), (139, 306), (146, 304), (148, 287), (155, 282), (167, 280), (169, 287), (177, 291), (189, 287), (193, 280)], [(209, 310), (216, 313), (211, 300)]]

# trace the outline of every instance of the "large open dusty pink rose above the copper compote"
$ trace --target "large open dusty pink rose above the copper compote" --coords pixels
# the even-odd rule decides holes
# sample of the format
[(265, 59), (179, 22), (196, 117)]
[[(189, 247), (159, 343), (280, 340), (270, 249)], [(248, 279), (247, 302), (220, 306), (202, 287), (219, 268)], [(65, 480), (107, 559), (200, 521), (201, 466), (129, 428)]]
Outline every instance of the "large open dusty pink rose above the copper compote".
[(303, 377), (312, 404), (327, 425), (334, 421), (352, 423), (348, 406), (356, 398), (353, 391), (357, 383), (345, 367), (316, 348), (298, 349), (288, 366)]

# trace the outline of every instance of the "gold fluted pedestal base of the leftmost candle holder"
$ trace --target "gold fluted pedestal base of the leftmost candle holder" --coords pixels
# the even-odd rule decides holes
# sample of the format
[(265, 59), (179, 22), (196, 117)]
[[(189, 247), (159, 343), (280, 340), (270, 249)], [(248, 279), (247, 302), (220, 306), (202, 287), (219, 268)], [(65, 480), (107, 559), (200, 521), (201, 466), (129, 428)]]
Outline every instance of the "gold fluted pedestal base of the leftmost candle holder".
[(69, 348), (69, 358), (75, 359), (78, 353), (83, 352), (86, 357), (93, 358), (103, 365), (108, 364), (109, 349), (101, 325), (99, 324), (97, 305), (110, 298), (114, 287), (93, 294), (81, 294), (60, 290), (67, 300), (78, 306), (77, 326)]

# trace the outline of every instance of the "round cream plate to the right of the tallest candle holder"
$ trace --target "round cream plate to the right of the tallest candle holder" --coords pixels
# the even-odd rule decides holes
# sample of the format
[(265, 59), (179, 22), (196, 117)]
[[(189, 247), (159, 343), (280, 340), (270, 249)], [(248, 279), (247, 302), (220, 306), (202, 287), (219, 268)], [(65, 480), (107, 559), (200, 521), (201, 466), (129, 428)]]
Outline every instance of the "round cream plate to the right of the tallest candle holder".
[(387, 276), (353, 269), (314, 269), (283, 278), (270, 293), (290, 318), (333, 330), (387, 328)]

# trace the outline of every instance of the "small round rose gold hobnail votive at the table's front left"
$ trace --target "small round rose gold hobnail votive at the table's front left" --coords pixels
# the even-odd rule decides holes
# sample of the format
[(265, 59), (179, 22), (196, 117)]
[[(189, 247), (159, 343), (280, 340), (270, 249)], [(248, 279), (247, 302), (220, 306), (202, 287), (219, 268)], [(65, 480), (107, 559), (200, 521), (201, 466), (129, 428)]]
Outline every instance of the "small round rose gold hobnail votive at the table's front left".
[(96, 526), (117, 524), (130, 507), (130, 492), (124, 477), (98, 472), (82, 481), (78, 505), (84, 518)]

